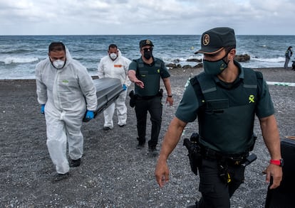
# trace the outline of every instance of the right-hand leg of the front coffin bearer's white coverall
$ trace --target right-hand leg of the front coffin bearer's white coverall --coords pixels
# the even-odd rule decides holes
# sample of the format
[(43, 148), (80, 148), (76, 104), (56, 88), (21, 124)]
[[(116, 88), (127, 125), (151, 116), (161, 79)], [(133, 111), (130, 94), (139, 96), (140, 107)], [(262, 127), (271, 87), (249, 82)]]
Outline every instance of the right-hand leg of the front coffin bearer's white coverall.
[(83, 155), (83, 134), (81, 132), (82, 114), (66, 114), (63, 120), (66, 124), (66, 135), (68, 137), (68, 155), (72, 160), (77, 160)]

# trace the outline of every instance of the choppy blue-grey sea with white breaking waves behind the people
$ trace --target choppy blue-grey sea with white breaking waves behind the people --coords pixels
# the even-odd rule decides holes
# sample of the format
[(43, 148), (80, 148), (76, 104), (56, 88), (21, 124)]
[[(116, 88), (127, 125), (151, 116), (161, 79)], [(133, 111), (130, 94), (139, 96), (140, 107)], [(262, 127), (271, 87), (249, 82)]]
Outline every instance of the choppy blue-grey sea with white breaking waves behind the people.
[[(97, 75), (108, 45), (118, 45), (122, 55), (133, 60), (140, 57), (139, 41), (143, 39), (152, 40), (153, 55), (166, 64), (194, 66), (197, 62), (187, 60), (202, 59), (201, 54), (194, 54), (200, 49), (200, 35), (5, 35), (0, 36), (0, 80), (34, 79), (36, 64), (48, 56), (51, 42), (65, 43), (71, 56), (90, 75)], [(237, 35), (237, 55), (250, 55), (243, 67), (283, 67), (286, 48), (294, 43), (295, 35)]]

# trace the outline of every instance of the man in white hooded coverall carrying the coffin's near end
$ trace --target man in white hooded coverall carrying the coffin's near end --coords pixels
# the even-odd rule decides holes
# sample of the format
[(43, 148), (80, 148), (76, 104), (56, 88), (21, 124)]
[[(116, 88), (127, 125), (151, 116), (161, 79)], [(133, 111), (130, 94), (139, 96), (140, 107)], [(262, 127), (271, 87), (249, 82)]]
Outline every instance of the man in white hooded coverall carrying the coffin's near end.
[(70, 166), (81, 163), (82, 120), (84, 116), (93, 119), (97, 97), (86, 67), (71, 58), (63, 43), (51, 43), (48, 49), (48, 58), (36, 65), (36, 92), (41, 113), (45, 114), (46, 144), (56, 166), (56, 182), (68, 177)]

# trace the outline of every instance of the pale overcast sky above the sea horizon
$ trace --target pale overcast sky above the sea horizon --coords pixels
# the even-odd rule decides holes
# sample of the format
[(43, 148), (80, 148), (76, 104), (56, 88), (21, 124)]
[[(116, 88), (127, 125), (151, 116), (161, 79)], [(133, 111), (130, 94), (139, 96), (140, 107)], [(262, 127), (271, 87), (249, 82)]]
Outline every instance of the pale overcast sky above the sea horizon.
[(0, 35), (295, 35), (294, 0), (0, 0)]

